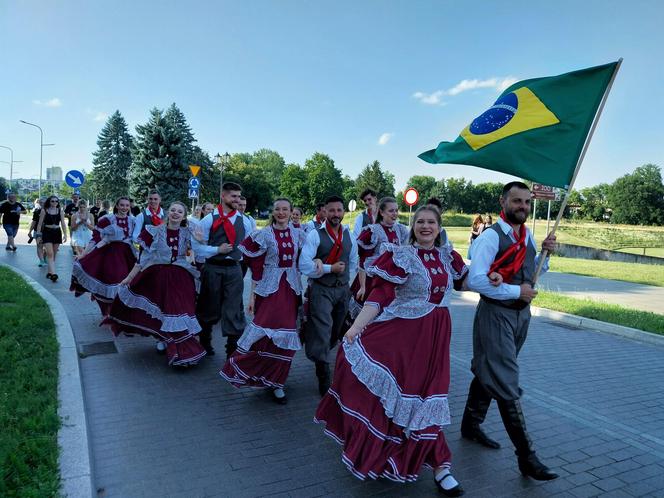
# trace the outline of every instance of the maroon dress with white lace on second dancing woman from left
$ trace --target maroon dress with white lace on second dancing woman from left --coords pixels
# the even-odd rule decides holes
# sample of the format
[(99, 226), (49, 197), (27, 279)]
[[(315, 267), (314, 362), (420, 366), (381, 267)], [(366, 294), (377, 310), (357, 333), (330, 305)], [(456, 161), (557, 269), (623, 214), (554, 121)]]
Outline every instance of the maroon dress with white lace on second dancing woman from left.
[(205, 356), (196, 334), (198, 271), (187, 262), (189, 228), (146, 225), (138, 242), (141, 271), (121, 286), (103, 323), (118, 336), (152, 336), (166, 343), (169, 365), (193, 365)]

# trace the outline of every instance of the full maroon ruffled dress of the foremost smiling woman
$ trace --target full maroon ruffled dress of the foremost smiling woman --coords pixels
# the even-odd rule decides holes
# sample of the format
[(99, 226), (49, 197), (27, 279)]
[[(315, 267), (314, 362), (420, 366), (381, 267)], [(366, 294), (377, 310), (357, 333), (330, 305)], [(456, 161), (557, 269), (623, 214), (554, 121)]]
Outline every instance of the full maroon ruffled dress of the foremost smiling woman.
[(449, 245), (389, 244), (367, 273), (374, 280), (365, 306), (381, 313), (339, 348), (314, 420), (343, 446), (341, 459), (356, 477), (410, 482), (423, 466), (451, 465), (443, 434), (450, 423), (447, 306), (467, 267)]

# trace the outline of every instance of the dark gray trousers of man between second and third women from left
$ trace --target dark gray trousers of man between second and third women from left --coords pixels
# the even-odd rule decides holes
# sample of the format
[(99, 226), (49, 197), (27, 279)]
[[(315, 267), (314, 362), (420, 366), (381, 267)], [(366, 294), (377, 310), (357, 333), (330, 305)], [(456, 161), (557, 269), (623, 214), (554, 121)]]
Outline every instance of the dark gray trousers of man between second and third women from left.
[(242, 335), (246, 321), (242, 307), (244, 280), (239, 264), (205, 264), (201, 271), (201, 292), (196, 304), (196, 318), (203, 328), (221, 319), (224, 336)]

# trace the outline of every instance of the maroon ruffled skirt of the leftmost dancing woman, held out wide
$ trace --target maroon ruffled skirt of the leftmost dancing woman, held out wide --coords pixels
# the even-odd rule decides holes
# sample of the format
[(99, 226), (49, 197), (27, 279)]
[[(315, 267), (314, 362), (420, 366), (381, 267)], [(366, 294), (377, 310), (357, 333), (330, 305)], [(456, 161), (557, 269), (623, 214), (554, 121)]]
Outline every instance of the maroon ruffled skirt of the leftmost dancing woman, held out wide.
[(97, 301), (101, 314), (108, 315), (111, 303), (122, 282), (136, 264), (136, 257), (128, 244), (111, 242), (95, 248), (72, 267), (69, 290), (79, 297), (89, 292)]

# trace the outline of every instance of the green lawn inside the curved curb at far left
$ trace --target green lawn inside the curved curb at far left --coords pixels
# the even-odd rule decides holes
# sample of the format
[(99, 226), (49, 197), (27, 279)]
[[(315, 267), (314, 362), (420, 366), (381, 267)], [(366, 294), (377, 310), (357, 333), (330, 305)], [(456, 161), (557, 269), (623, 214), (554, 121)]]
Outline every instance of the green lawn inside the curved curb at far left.
[(58, 343), (46, 302), (0, 267), (0, 496), (58, 496)]

